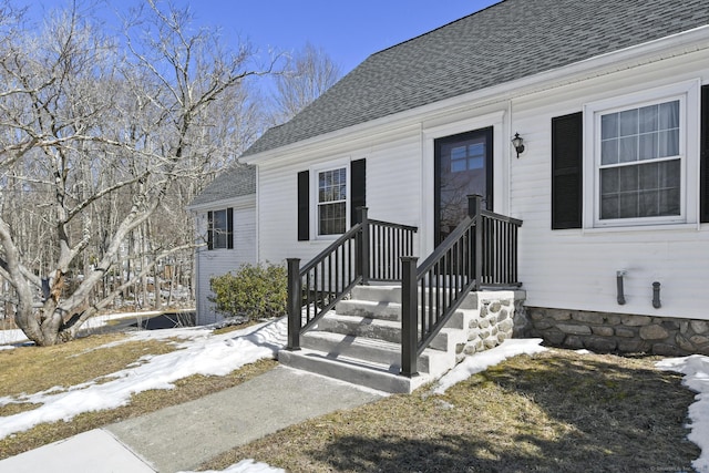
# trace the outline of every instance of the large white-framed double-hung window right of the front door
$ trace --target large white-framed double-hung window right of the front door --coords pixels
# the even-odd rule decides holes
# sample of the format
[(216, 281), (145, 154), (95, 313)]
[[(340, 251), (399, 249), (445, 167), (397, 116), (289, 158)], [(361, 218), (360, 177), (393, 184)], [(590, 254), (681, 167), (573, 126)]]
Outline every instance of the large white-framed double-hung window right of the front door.
[(697, 222), (698, 83), (585, 107), (586, 228)]

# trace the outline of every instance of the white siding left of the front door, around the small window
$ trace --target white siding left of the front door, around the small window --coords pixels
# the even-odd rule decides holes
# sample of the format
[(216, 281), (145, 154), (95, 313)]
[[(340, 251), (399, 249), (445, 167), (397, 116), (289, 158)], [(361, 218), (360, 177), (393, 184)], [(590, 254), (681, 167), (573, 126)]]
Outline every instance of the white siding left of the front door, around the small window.
[[(325, 249), (333, 236), (317, 237), (317, 214), (310, 208), (310, 240), (297, 240), (297, 174), (310, 171), (310, 200), (316, 202), (317, 173), (347, 167), (349, 163), (367, 160), (367, 207), (374, 219), (420, 226), (420, 135), (418, 128), (408, 130), (401, 136), (389, 137), (386, 143), (345, 143), (341, 147), (315, 150), (288, 160), (259, 164), (259, 259), (284, 261), (300, 258), (307, 263)], [(333, 156), (336, 160), (333, 161)], [(347, 156), (347, 158), (343, 158)], [(392, 178), (397, 176), (397, 178)], [(413, 184), (411, 184), (413, 183)], [(349, 182), (348, 182), (349, 184)], [(349, 192), (348, 192), (349, 199)], [(349, 223), (350, 208), (347, 217)], [(315, 238), (312, 236), (316, 236)], [(417, 243), (418, 246), (418, 243)]]

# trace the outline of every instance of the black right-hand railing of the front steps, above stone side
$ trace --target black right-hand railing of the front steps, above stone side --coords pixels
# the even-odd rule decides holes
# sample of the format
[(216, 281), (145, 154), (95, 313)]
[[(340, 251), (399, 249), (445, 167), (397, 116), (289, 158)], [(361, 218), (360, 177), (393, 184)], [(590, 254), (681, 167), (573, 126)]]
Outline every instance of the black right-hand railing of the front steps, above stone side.
[(481, 208), (469, 196), (469, 216), (417, 268), (402, 258), (401, 374), (418, 373), (418, 357), (470, 291), (481, 286), (520, 286), (517, 229), (522, 220)]

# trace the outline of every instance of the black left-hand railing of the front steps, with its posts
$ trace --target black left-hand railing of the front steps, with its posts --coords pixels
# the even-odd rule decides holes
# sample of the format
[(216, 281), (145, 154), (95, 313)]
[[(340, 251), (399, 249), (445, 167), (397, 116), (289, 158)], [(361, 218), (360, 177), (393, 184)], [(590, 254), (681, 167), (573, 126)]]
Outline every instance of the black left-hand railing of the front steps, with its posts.
[(288, 258), (288, 346), (300, 348), (300, 335), (312, 328), (356, 285), (401, 280), (401, 257), (413, 251), (417, 227), (369, 219), (360, 223), (300, 267)]

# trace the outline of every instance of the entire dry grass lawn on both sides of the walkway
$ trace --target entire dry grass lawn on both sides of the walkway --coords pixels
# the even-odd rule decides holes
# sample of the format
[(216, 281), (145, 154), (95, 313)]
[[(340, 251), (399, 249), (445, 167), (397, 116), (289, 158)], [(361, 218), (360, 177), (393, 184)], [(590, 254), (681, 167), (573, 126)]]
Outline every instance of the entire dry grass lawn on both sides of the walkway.
[[(0, 397), (91, 381), (145, 354), (176, 349), (169, 341), (105, 347), (122, 337), (0, 351)], [(685, 424), (695, 394), (679, 374), (656, 370), (655, 361), (568, 350), (520, 356), (443, 395), (427, 387), (336, 412), (234, 449), (203, 467), (255, 459), (292, 473), (691, 471), (700, 452), (687, 440)], [(138, 393), (123, 408), (38, 425), (0, 440), (0, 459), (230, 388), (275, 364), (263, 360), (226, 377), (194, 376), (169, 391)], [(8, 404), (0, 417), (29, 409)]]

